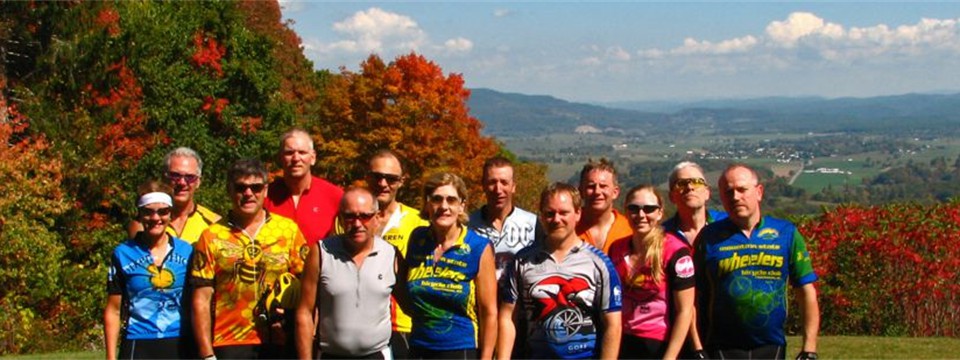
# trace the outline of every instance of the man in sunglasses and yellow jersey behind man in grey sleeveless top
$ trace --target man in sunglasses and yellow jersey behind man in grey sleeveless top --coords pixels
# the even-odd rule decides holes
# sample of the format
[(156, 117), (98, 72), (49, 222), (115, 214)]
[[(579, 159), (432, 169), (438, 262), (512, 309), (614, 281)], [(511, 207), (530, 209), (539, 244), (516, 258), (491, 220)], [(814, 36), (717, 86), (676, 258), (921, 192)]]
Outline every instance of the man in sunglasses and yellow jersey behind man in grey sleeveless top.
[[(420, 211), (397, 201), (397, 193), (403, 187), (406, 175), (400, 159), (390, 150), (381, 150), (370, 157), (370, 171), (366, 175), (370, 192), (377, 199), (380, 208), (380, 237), (400, 250), (406, 257), (410, 232), (429, 223), (420, 217)], [(393, 311), (393, 334), (390, 348), (395, 359), (408, 357), (410, 346), (410, 317), (400, 310), (396, 301), (390, 304)]]

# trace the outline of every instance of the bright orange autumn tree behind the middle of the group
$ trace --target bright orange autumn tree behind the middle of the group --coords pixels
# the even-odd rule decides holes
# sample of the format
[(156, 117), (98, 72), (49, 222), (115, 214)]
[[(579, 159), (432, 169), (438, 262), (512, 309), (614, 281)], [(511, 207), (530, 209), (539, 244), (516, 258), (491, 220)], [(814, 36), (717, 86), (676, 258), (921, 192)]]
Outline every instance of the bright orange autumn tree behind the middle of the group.
[(385, 64), (371, 55), (359, 72), (341, 69), (325, 88), (322, 122), (312, 127), (319, 170), (344, 184), (362, 179), (366, 159), (391, 149), (409, 176), (401, 200), (419, 204), (424, 177), (450, 171), (469, 185), (470, 206), (480, 205), (483, 162), (499, 146), (482, 136), (470, 116), (470, 91), (459, 74), (443, 70), (422, 55), (408, 54)]

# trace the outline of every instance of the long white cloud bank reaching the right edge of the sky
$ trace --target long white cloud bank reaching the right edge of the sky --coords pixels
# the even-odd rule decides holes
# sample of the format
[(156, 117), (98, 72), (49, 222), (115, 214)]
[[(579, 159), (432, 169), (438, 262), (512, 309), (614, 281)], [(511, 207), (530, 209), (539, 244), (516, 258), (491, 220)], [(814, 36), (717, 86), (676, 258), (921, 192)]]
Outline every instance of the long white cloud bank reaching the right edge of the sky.
[[(689, 69), (756, 70), (821, 65), (891, 63), (933, 56), (960, 55), (958, 19), (922, 19), (914, 25), (886, 24), (844, 28), (809, 12), (795, 12), (770, 22), (762, 34), (712, 42), (694, 38), (672, 49), (641, 49), (647, 62), (670, 64), (685, 57), (699, 64)], [(690, 56), (696, 55), (696, 59)], [(707, 59), (709, 57), (712, 59)], [(703, 66), (709, 64), (709, 66)]]

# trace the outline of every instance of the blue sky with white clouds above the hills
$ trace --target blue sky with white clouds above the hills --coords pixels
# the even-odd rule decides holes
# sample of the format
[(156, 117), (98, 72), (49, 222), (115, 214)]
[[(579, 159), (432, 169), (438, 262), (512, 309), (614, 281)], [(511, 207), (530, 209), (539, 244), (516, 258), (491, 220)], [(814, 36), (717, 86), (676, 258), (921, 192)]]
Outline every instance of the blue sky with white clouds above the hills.
[(960, 2), (282, 0), (318, 69), (416, 51), (583, 102), (960, 92)]

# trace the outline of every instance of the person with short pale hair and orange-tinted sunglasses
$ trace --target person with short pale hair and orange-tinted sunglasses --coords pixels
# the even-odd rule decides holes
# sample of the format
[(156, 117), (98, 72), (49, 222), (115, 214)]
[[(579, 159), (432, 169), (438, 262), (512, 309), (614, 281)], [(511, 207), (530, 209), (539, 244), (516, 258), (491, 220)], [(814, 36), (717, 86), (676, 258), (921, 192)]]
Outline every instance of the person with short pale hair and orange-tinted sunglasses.
[(710, 186), (697, 163), (683, 161), (670, 172), (670, 202), (676, 214), (663, 222), (663, 229), (693, 248), (693, 240), (707, 224), (727, 218), (727, 213), (707, 208)]

